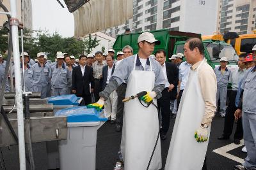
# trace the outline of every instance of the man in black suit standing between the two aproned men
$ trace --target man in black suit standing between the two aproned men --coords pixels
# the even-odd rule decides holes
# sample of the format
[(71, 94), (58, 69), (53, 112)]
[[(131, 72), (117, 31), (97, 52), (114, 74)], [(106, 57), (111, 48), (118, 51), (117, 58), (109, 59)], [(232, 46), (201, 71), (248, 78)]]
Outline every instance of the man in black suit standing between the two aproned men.
[(158, 50), (155, 53), (156, 60), (161, 64), (165, 85), (162, 91), (162, 97), (157, 99), (157, 105), (161, 110), (162, 115), (162, 128), (160, 131), (160, 137), (162, 140), (166, 139), (166, 133), (170, 126), (170, 101), (174, 100), (177, 96), (177, 85), (179, 81), (179, 69), (171, 63), (165, 62), (166, 52), (164, 50)]

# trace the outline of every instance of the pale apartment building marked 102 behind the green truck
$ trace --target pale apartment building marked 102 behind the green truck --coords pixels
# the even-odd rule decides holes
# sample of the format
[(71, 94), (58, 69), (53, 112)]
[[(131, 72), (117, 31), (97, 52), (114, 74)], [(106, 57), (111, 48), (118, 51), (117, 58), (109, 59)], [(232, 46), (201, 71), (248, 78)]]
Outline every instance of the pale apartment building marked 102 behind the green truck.
[(212, 34), (217, 27), (217, 13), (218, 1), (212, 0), (133, 0), (133, 17), (104, 32), (116, 37), (129, 27), (132, 32), (169, 29)]

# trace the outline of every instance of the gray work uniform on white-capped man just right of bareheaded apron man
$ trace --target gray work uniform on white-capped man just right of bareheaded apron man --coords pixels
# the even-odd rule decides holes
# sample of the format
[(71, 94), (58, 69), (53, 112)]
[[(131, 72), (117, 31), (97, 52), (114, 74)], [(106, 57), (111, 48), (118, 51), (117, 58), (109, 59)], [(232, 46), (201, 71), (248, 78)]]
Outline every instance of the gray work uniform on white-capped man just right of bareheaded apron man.
[(230, 69), (226, 67), (224, 74), (221, 73), (221, 67), (216, 67), (214, 73), (217, 78), (217, 94), (216, 94), (216, 106), (218, 106), (218, 101), (220, 99), (220, 114), (226, 114), (226, 100), (228, 92), (228, 80), (231, 74)]

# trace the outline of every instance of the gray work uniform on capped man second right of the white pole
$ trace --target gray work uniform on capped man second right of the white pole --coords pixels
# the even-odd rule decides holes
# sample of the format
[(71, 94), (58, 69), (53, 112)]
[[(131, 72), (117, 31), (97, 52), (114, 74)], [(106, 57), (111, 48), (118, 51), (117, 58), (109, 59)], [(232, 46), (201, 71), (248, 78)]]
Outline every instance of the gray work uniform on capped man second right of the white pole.
[(41, 67), (39, 63), (33, 66), (33, 91), (41, 92), (41, 98), (47, 97), (50, 67), (47, 64)]

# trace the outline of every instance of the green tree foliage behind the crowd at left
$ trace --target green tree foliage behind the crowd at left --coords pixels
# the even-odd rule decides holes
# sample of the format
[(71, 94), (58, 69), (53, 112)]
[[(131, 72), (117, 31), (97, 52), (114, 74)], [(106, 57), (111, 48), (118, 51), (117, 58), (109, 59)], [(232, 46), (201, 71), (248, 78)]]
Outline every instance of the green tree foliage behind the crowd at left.
[[(19, 32), (20, 34), (20, 32)], [(21, 42), (21, 41), (20, 41)], [(23, 31), (24, 52), (29, 52), (32, 59), (36, 59), (36, 53), (45, 52), (50, 60), (54, 60), (56, 52), (67, 52), (70, 55), (78, 56), (81, 53), (90, 53), (92, 48), (99, 45), (99, 40), (89, 35), (87, 40), (79, 40), (74, 37), (63, 38), (58, 32), (49, 34), (48, 31)], [(20, 51), (21, 51), (21, 43)], [(0, 30), (0, 52), (8, 49), (8, 34), (4, 29)]]

